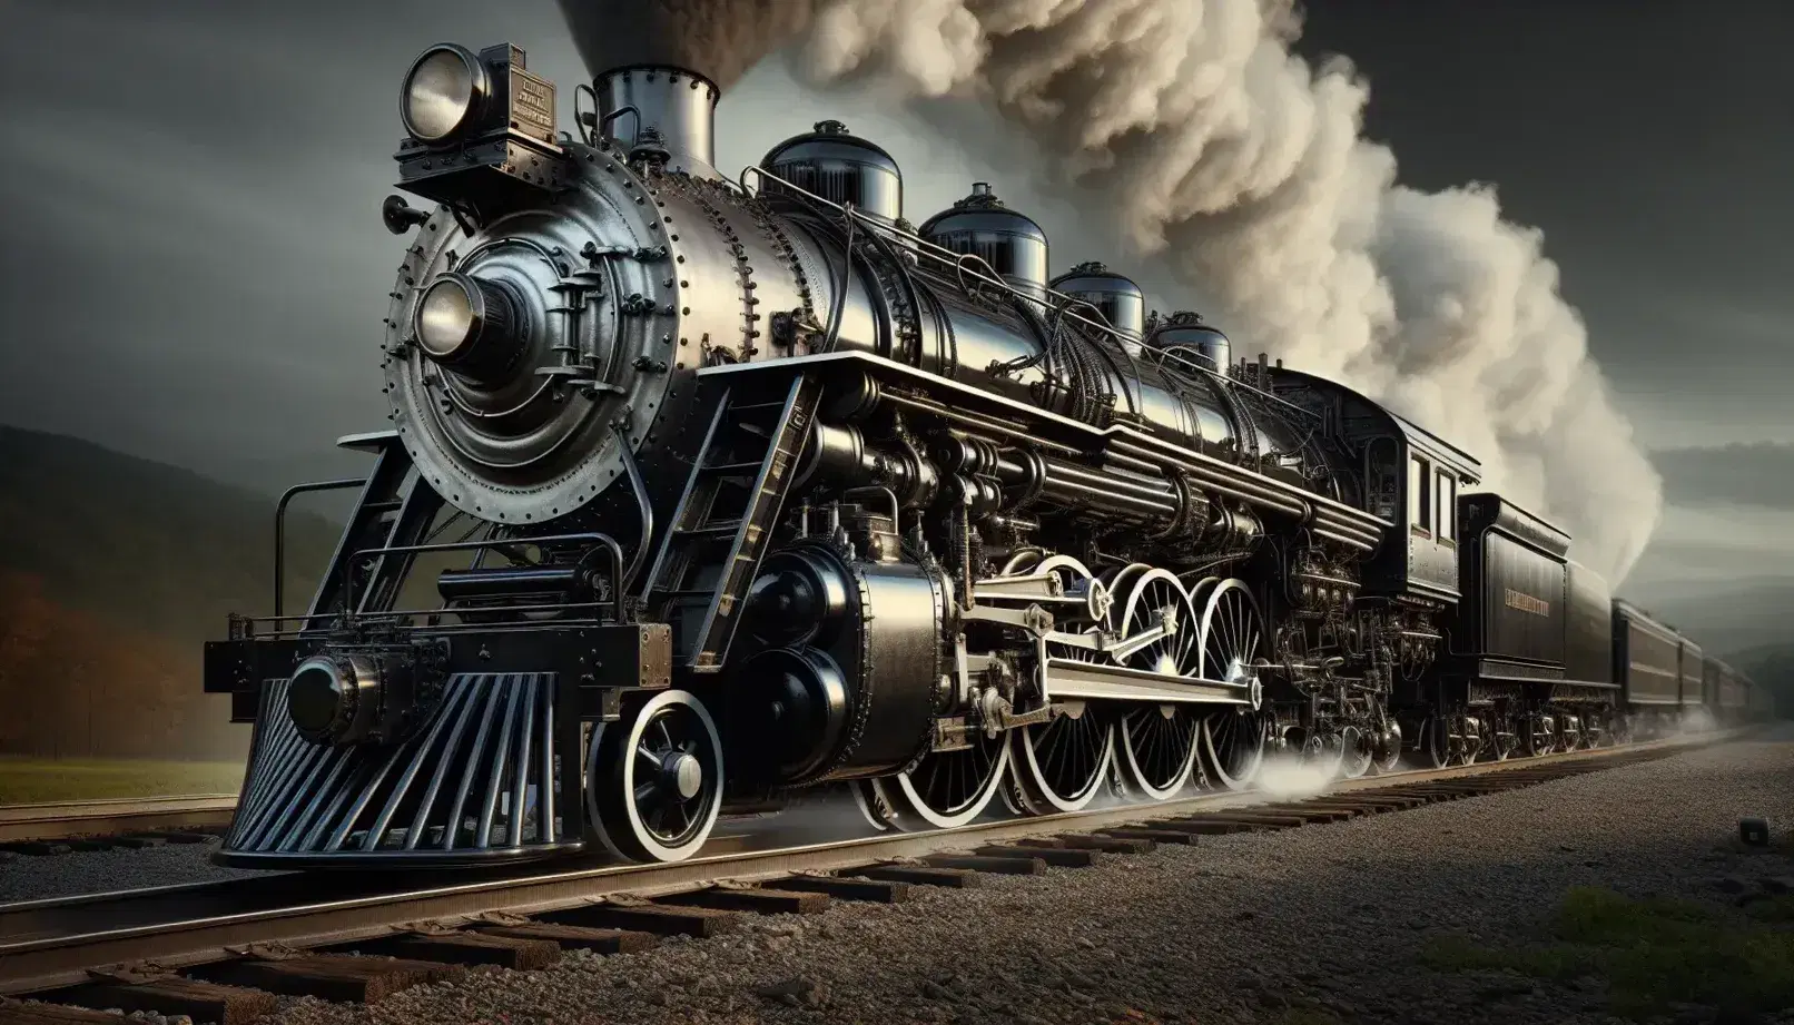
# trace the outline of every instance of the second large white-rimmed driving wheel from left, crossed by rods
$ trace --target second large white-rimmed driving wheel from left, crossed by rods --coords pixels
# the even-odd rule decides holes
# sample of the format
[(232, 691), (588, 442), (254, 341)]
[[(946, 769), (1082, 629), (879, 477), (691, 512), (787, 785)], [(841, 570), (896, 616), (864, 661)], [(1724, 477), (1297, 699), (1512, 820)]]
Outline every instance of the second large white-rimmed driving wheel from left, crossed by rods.
[[(1082, 562), (1055, 555), (1041, 562), (1035, 573), (1057, 573), (1066, 594), (1084, 589), (1098, 596), (1085, 610), (1093, 621), (1091, 630), (1109, 628), (1112, 616), (1107, 591), (1098, 591), (1102, 582), (1094, 580)], [(1055, 641), (1048, 641), (1046, 653), (1078, 662), (1107, 659), (1093, 648)], [(1114, 714), (1098, 702), (1067, 702), (1064, 714), (1010, 731), (1012, 808), (1030, 815), (1049, 815), (1078, 811), (1094, 801), (1114, 763), (1112, 723)]]

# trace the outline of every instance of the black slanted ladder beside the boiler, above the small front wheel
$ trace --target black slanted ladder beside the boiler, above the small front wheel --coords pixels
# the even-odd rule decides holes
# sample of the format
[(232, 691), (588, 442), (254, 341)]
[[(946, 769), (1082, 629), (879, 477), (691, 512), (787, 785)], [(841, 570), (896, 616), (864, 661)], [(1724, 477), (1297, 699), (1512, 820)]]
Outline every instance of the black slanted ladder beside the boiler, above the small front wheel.
[(820, 395), (800, 373), (784, 395), (743, 382), (718, 402), (642, 591), (648, 612), (673, 625), (675, 659), (691, 671), (723, 668)]

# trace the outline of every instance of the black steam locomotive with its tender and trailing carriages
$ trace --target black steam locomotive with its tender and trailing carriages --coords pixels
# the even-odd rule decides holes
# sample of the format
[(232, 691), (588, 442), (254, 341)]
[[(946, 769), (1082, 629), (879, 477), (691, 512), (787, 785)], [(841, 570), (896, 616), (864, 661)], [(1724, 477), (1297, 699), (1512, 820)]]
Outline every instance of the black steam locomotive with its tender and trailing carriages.
[(913, 228), (832, 120), (732, 181), (714, 83), (590, 72), (576, 135), (517, 47), (405, 74), (393, 424), (280, 503), (359, 494), (309, 607), (276, 555), (206, 646), (255, 723), (219, 862), (680, 860), (823, 786), (944, 829), (1744, 693), (1475, 458), (1102, 264), (1049, 280), (988, 185)]

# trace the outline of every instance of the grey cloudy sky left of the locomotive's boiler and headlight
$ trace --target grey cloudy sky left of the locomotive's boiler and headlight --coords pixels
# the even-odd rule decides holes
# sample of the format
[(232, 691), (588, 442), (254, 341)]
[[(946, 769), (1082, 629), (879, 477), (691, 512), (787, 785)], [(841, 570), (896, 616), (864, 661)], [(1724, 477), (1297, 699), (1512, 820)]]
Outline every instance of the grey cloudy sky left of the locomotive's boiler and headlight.
[(511, 38), (579, 79), (547, 2), (9, 13), (0, 420), (262, 486), (386, 424), (379, 205), (409, 59)]

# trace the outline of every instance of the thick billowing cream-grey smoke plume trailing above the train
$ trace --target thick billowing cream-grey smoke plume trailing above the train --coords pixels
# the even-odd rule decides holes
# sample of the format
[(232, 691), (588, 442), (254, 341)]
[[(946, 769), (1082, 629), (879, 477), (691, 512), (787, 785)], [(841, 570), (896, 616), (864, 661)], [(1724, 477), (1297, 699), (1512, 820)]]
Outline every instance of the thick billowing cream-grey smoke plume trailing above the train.
[(1039, 147), (1017, 176), (1114, 224), (1141, 276), (1200, 298), (1238, 352), (1335, 377), (1471, 451), (1485, 490), (1568, 528), (1615, 583), (1650, 539), (1661, 483), (1539, 232), (1503, 221), (1484, 185), (1396, 185), (1394, 154), (1360, 135), (1367, 84), (1344, 59), (1292, 54), (1293, 0), (628, 7), (676, 9), (696, 70), (725, 88), (784, 45), (809, 83), (877, 81), (924, 117), (922, 101), (981, 101)]

